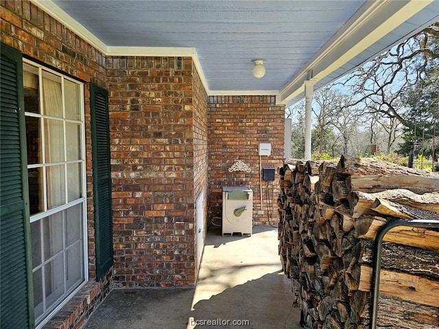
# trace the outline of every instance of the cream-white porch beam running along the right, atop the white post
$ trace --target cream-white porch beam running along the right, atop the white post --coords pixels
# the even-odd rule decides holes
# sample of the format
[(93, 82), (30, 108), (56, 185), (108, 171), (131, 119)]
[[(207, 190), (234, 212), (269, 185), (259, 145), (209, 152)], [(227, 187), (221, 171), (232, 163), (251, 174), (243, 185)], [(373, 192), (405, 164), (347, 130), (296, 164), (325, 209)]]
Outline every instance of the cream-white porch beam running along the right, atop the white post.
[[(287, 103), (303, 93), (305, 80), (309, 79), (309, 73), (314, 81), (321, 80), (433, 1), (368, 1), (361, 8), (361, 12), (357, 12), (346, 23), (347, 28), (335, 34), (322, 50), (304, 66), (302, 71), (282, 88), (279, 102)], [(357, 40), (361, 40), (361, 42)]]

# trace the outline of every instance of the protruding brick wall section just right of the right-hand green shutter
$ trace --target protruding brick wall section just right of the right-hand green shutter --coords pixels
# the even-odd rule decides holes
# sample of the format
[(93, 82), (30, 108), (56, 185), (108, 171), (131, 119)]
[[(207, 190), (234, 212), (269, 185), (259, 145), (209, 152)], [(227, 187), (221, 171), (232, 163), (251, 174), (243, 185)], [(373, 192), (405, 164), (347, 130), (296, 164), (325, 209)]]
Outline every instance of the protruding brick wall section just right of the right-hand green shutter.
[(206, 106), (193, 62), (110, 57), (107, 68), (115, 284), (193, 285), (194, 179), (206, 175)]

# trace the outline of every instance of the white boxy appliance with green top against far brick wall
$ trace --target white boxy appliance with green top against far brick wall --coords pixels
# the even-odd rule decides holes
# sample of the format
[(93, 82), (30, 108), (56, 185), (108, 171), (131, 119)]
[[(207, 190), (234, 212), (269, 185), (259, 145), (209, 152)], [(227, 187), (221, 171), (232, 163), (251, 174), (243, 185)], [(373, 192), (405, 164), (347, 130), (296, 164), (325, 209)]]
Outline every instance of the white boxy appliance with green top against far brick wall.
[(252, 234), (253, 191), (248, 186), (223, 186), (222, 235)]

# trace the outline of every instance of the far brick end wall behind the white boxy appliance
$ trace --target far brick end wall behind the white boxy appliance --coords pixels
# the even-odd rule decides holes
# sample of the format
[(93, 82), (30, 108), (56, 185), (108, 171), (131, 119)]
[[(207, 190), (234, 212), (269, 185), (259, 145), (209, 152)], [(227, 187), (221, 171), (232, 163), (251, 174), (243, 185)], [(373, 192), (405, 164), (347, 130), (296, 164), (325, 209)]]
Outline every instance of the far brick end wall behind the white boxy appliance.
[[(276, 105), (274, 96), (211, 96), (208, 108), (209, 218), (222, 215), (222, 186), (246, 185), (253, 191), (254, 222), (277, 222), (278, 175), (274, 184), (262, 182), (261, 205), (258, 147), (259, 143), (272, 144), (272, 155), (261, 158), (262, 167), (282, 166), (285, 107)], [(228, 172), (236, 160), (248, 164), (251, 172)], [(258, 215), (258, 210), (264, 214)]]

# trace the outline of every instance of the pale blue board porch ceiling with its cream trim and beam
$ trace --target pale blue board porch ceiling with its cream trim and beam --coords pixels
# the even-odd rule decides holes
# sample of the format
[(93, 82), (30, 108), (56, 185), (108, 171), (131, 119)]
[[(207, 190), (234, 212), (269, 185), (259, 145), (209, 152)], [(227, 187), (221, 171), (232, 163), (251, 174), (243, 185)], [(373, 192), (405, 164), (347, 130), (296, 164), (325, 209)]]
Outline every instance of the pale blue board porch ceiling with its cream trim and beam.
[(438, 0), (33, 1), (107, 55), (192, 56), (209, 95), (287, 104), (439, 20)]

